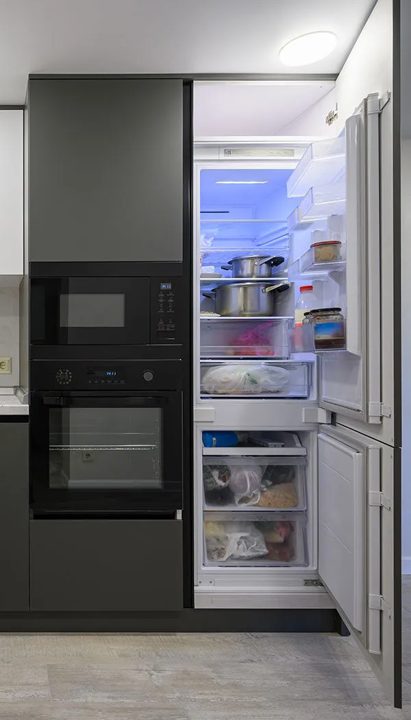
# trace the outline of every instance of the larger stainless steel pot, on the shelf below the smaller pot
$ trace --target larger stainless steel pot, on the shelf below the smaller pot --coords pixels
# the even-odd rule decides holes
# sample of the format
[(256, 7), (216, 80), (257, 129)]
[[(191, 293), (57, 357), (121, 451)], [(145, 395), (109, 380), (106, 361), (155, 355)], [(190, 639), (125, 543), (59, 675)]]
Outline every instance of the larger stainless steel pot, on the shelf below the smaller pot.
[(238, 282), (214, 287), (203, 292), (204, 297), (214, 297), (215, 312), (228, 318), (257, 318), (274, 315), (276, 294), (289, 288), (286, 282), (266, 285), (262, 282)]

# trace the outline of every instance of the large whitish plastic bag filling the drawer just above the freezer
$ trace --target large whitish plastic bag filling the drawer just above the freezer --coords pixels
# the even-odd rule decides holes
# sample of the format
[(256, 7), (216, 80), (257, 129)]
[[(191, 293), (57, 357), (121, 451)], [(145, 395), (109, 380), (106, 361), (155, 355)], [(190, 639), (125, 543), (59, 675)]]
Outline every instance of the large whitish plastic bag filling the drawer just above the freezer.
[(202, 390), (209, 395), (261, 395), (280, 392), (289, 382), (284, 367), (239, 362), (210, 367), (204, 373)]

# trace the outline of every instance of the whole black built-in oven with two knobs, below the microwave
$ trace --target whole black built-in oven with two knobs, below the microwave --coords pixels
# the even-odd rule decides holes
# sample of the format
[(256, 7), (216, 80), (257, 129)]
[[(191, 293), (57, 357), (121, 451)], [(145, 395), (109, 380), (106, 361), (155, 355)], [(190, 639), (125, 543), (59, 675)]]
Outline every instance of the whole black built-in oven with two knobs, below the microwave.
[(183, 503), (181, 361), (32, 361), (35, 516), (173, 513)]

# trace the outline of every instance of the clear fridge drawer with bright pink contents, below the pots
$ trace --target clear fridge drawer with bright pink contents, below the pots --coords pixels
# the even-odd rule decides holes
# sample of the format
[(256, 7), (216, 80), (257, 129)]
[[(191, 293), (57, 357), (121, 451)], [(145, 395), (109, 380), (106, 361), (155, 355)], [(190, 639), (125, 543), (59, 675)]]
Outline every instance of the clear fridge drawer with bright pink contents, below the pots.
[(202, 358), (289, 358), (290, 320), (244, 320), (220, 318), (217, 322), (202, 318), (200, 354)]

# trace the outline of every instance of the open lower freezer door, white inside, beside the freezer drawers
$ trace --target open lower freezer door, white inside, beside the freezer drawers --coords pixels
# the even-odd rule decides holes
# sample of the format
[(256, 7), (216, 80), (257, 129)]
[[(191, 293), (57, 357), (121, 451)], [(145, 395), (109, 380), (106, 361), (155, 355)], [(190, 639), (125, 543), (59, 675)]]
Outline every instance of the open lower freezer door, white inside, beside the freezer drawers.
[(343, 426), (318, 435), (318, 571), (387, 694), (401, 688), (401, 536), (392, 448)]

